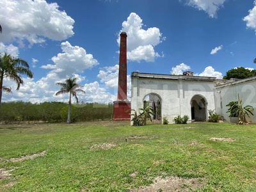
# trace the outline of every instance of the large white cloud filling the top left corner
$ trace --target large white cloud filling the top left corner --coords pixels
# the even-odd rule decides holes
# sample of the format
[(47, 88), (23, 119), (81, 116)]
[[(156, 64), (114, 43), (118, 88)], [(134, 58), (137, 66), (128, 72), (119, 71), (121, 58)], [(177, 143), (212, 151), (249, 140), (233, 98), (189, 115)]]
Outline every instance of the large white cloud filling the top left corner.
[(74, 35), (74, 19), (59, 10), (57, 3), (45, 0), (1, 0), (0, 20), (4, 42), (17, 41), (30, 45), (51, 40), (65, 40)]

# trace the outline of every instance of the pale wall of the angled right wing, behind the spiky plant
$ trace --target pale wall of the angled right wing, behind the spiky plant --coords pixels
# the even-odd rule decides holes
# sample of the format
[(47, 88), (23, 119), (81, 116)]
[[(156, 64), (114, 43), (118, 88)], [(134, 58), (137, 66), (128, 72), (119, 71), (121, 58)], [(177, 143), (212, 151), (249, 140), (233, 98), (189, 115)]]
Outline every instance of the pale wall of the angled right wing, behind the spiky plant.
[[(256, 79), (251, 78), (251, 81), (240, 80), (234, 83), (218, 86), (214, 90), (216, 111), (219, 113), (227, 122), (236, 123), (237, 118), (228, 117), (230, 114), (228, 111), (227, 104), (231, 101), (237, 100), (238, 93), (243, 100), (243, 106), (250, 105), (254, 108), (254, 116), (248, 118), (253, 124), (256, 124)], [(222, 101), (222, 108), (221, 108)]]

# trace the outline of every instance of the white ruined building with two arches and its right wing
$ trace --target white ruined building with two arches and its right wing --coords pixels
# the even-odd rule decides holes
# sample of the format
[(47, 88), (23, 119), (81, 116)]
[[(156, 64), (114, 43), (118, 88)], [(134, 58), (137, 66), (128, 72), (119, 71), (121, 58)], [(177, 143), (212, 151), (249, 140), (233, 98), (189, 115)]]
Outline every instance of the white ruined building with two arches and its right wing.
[[(148, 102), (156, 111), (153, 118), (159, 123), (164, 117), (173, 123), (178, 115), (205, 121), (209, 109), (216, 110), (227, 122), (236, 122), (237, 118), (228, 117), (226, 105), (237, 100), (238, 93), (244, 106), (256, 109), (256, 77), (235, 81), (193, 76), (192, 72), (183, 76), (132, 72), (131, 91), (131, 109), (139, 111)], [(256, 124), (256, 116), (248, 120)]]

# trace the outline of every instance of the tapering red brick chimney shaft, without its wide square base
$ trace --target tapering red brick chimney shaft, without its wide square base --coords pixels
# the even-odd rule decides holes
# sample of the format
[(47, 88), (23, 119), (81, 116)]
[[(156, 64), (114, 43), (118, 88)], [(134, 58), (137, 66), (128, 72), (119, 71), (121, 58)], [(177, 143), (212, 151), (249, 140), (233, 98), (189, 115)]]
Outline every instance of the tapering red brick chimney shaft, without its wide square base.
[(119, 76), (117, 100), (127, 100), (127, 34), (120, 34)]

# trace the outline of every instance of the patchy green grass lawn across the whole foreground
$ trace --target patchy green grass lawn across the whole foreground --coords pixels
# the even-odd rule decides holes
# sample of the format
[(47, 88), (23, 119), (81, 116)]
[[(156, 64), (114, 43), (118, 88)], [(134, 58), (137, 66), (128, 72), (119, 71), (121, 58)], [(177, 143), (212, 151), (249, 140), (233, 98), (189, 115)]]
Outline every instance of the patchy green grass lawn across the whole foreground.
[(256, 125), (1, 125), (0, 146), (0, 170), (12, 174), (0, 191), (136, 191), (157, 177), (200, 181), (184, 191), (256, 191)]

